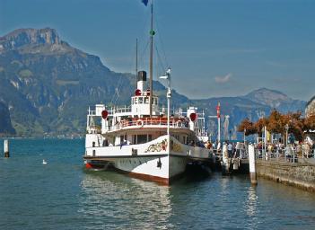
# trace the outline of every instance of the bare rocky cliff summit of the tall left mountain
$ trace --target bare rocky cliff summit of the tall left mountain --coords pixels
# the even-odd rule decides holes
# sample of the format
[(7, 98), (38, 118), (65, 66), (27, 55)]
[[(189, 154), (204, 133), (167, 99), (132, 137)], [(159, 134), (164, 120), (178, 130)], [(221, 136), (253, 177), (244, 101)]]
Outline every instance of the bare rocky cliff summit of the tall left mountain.
[(55, 29), (18, 29), (0, 37), (0, 52), (20, 49), (26, 45), (59, 45), (61, 40)]

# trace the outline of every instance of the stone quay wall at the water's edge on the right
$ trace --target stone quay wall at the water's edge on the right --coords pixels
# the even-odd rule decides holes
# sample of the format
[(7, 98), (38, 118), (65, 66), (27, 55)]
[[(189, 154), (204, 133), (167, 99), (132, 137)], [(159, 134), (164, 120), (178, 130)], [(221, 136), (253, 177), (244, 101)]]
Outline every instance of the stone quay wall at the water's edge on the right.
[(258, 176), (315, 192), (315, 164), (307, 160), (289, 163), (257, 159), (256, 172)]

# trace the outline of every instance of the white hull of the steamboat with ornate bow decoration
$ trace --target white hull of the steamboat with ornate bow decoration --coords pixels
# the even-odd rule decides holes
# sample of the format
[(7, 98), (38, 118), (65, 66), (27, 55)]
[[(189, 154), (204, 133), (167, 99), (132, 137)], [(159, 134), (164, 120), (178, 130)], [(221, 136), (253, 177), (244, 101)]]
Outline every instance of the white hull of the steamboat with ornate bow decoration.
[(130, 146), (87, 147), (84, 156), (86, 166), (97, 167), (111, 164), (118, 171), (148, 181), (170, 184), (184, 173), (189, 160), (194, 157), (209, 159), (209, 150), (180, 144), (171, 137), (159, 137), (152, 142)]

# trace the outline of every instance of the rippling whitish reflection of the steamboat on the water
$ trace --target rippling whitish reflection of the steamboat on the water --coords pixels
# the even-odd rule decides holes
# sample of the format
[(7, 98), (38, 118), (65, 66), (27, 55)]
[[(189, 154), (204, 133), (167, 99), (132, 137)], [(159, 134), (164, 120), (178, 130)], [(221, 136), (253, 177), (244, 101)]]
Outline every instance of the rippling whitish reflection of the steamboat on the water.
[(170, 188), (112, 172), (86, 173), (78, 212), (87, 228), (171, 227)]

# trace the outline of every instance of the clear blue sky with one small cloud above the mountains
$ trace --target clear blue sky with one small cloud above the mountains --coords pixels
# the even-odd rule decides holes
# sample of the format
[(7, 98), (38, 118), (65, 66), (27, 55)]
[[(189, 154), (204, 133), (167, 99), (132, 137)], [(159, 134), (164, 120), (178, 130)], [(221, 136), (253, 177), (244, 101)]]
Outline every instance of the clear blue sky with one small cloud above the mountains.
[[(179, 93), (208, 98), (267, 87), (305, 101), (315, 94), (315, 1), (154, 2), (163, 62), (154, 78), (171, 66)], [(0, 0), (0, 36), (29, 27), (57, 29), (116, 72), (134, 71), (138, 38), (146, 70), (149, 7), (141, 0)]]

